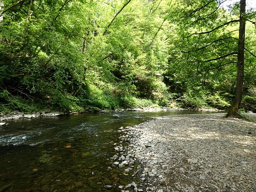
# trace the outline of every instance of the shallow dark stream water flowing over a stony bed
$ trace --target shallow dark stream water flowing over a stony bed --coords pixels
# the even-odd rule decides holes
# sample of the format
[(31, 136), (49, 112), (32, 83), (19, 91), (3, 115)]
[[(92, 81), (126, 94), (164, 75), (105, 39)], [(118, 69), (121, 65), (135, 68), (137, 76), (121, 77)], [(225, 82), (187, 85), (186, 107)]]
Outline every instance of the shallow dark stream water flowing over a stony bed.
[[(81, 191), (131, 183), (118, 168), (108, 171), (116, 154), (118, 128), (153, 116), (200, 111), (104, 112), (5, 121), (0, 127), (0, 192)], [(125, 143), (122, 143), (125, 145)]]

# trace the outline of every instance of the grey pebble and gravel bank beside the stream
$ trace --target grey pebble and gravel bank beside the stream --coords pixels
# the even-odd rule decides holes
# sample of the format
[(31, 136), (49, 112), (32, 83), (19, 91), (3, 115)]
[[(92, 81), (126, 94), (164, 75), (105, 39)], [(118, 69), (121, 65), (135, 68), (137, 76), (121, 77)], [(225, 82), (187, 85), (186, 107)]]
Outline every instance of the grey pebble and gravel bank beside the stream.
[(256, 123), (223, 116), (164, 116), (126, 128), (128, 154), (141, 164), (138, 187), (146, 192), (256, 191)]

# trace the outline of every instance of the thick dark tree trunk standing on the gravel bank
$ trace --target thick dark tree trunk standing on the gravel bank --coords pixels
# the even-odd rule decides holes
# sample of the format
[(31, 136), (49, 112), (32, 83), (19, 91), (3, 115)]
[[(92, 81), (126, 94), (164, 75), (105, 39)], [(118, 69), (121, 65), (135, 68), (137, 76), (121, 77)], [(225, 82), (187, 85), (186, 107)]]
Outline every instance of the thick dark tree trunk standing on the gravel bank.
[(240, 19), (239, 19), (239, 42), (237, 56), (237, 75), (236, 75), (236, 93), (234, 101), (227, 113), (227, 116), (241, 117), (239, 115), (239, 106), (242, 100), (243, 80), (244, 80), (244, 37), (245, 37), (245, 1), (240, 0)]

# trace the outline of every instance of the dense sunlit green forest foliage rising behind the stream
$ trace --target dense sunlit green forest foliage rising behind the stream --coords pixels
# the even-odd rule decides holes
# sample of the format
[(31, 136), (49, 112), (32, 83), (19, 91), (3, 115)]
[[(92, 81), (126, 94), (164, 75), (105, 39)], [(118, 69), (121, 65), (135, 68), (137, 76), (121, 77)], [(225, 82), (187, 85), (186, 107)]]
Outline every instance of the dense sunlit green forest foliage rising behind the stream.
[(225, 1), (0, 0), (0, 111), (225, 109), (241, 93), (256, 112), (256, 9)]

